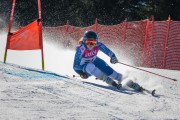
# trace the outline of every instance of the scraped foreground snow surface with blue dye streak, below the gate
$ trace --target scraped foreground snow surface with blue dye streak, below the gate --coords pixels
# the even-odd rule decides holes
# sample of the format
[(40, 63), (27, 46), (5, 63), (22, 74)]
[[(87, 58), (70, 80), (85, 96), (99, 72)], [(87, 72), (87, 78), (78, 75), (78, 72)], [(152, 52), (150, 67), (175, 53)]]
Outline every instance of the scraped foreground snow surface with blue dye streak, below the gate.
[[(153, 71), (180, 76), (179, 71)], [(160, 98), (119, 93), (96, 82), (0, 62), (0, 119), (180, 119), (179, 81), (154, 76), (149, 83), (157, 85), (148, 86), (137, 80), (156, 87)]]

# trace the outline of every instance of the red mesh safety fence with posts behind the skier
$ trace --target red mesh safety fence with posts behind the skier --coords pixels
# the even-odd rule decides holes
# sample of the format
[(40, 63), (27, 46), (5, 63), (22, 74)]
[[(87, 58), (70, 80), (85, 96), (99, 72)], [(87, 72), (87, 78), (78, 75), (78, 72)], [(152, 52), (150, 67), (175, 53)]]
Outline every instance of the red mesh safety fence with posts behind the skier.
[(101, 25), (97, 21), (89, 27), (68, 24), (58, 27), (44, 27), (45, 37), (51, 37), (65, 47), (73, 48), (86, 30), (98, 33), (99, 41), (118, 53), (131, 59), (139, 67), (180, 70), (180, 21), (124, 21), (117, 25)]

